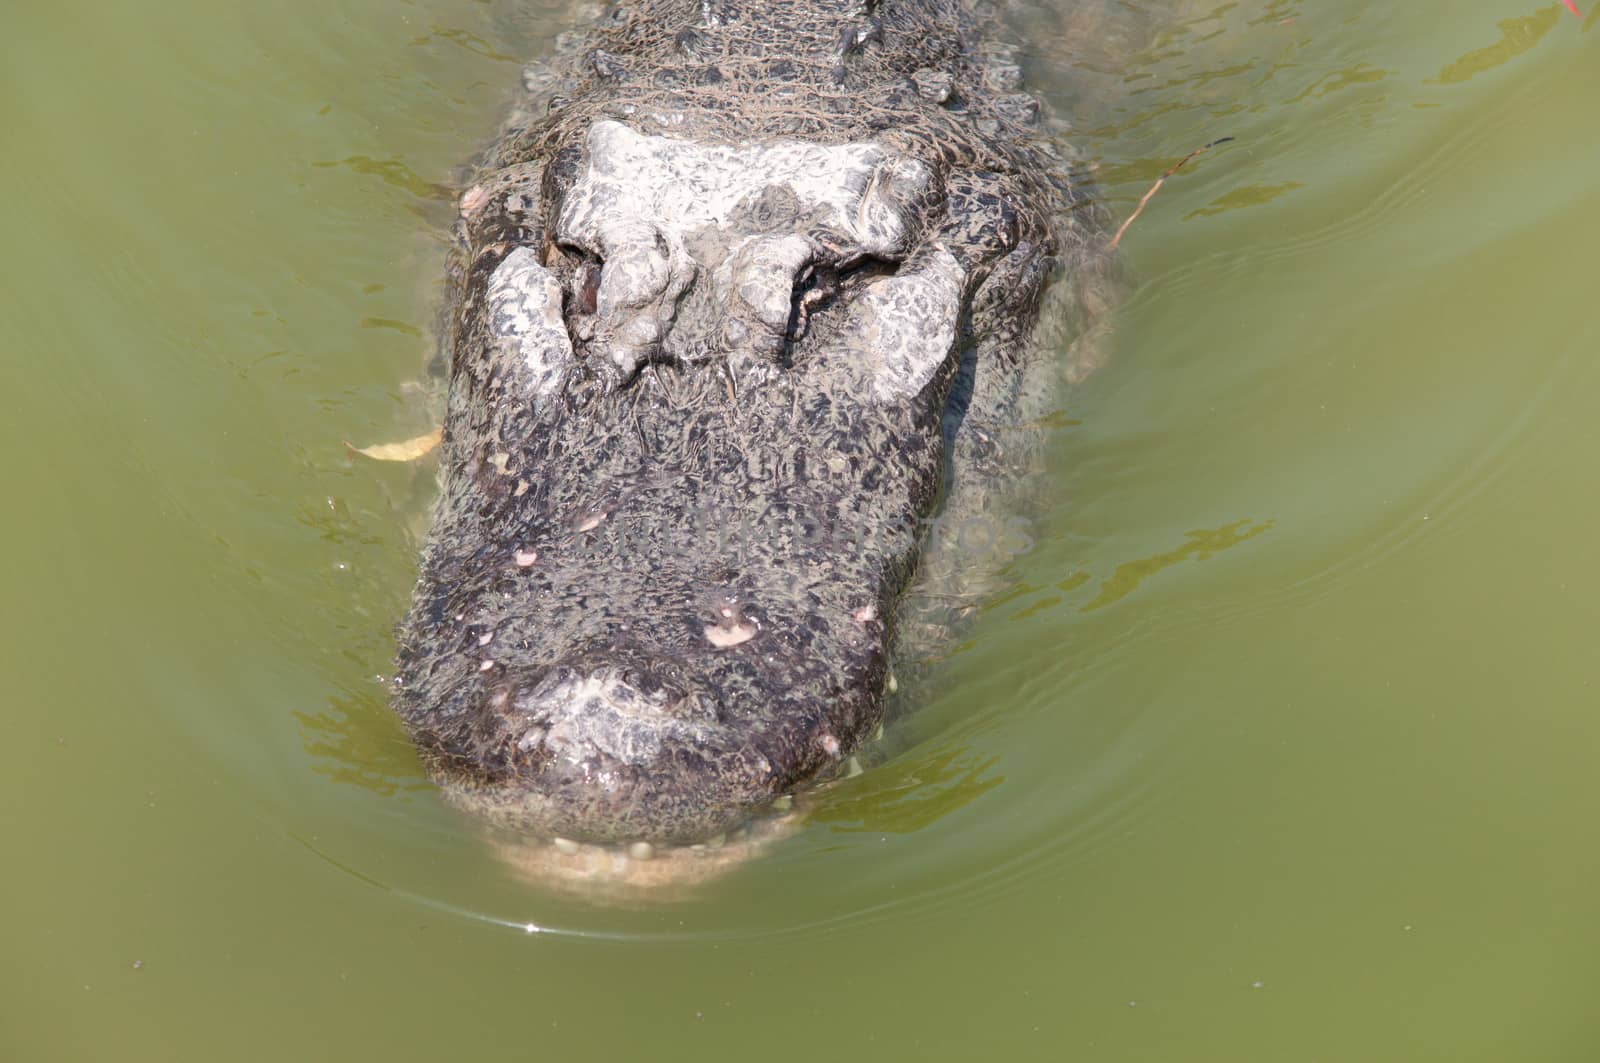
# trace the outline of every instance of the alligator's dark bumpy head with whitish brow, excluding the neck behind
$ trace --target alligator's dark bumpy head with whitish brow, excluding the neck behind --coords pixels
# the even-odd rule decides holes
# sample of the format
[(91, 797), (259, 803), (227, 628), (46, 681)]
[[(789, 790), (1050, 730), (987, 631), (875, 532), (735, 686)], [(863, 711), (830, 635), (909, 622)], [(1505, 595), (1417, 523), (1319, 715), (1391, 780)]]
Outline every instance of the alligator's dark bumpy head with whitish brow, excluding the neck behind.
[(1046, 242), (906, 144), (614, 120), (461, 213), (397, 706), (498, 823), (715, 839), (880, 725), (974, 317), (1022, 317)]

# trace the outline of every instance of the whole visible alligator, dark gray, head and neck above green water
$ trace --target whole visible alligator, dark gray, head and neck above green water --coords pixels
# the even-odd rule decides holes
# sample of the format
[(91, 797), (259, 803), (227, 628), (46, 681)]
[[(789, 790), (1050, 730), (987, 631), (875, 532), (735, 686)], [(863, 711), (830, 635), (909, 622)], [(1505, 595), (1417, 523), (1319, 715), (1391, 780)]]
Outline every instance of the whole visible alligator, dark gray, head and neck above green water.
[[(642, 0), (462, 195), (394, 704), (450, 797), (704, 842), (840, 770), (968, 600), (1107, 298), (1099, 211), (952, 0)], [(976, 562), (974, 562), (976, 565)], [(925, 647), (923, 647), (925, 648)], [(635, 845), (637, 847), (637, 845)]]

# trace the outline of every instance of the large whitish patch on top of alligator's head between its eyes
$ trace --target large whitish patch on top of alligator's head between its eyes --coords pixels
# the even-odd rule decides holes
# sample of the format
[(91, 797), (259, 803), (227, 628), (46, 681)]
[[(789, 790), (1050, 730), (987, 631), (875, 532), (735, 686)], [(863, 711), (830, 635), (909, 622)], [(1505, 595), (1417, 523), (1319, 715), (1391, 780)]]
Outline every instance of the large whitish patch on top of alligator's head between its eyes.
[(555, 235), (602, 259), (594, 336), (624, 373), (682, 327), (691, 285), (714, 291), (736, 346), (776, 357), (806, 264), (899, 259), (934, 186), (870, 141), (696, 144), (597, 122), (587, 147)]

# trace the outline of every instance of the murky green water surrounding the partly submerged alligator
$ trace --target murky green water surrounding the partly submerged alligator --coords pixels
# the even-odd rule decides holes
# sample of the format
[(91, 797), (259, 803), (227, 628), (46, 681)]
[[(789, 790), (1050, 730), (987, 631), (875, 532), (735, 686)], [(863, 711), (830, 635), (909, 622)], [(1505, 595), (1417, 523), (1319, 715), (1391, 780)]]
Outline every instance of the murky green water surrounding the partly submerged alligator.
[(430, 426), (454, 168), (568, 16), (13, 11), (0, 1060), (1600, 1058), (1595, 18), (1149, 11), (1030, 51), (1118, 215), (1237, 141), (1035, 549), (901, 752), (646, 909), (422, 781), (414, 474), (341, 445)]

